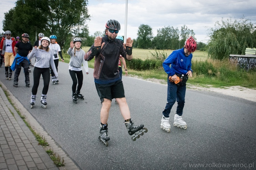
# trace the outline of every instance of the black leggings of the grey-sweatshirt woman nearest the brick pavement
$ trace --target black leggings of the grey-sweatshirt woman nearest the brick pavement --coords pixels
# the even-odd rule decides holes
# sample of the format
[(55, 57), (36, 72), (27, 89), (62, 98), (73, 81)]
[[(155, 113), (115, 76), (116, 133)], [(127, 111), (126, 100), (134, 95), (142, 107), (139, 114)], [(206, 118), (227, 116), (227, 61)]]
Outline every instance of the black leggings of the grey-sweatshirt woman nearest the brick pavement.
[(34, 77), (34, 84), (32, 87), (32, 95), (37, 95), (37, 89), (39, 86), (41, 74), (43, 76), (43, 81), (44, 81), (44, 87), (42, 90), (42, 95), (47, 95), (48, 88), (49, 88), (49, 83), (50, 83), (50, 70), (48, 68), (39, 68), (39, 67), (34, 67), (33, 71), (33, 77)]

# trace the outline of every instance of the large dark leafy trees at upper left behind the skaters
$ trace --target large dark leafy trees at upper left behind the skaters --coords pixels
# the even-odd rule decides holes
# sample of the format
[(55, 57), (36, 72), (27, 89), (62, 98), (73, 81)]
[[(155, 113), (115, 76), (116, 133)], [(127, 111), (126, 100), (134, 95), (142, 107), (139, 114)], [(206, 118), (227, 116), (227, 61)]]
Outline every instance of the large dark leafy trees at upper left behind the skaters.
[[(14, 29), (19, 34), (26, 32), (34, 37), (36, 32), (43, 32), (45, 36), (54, 34), (63, 47), (72, 35), (88, 35), (87, 5), (88, 0), (18, 0), (16, 6), (5, 13), (3, 29)], [(17, 26), (19, 28), (15, 28)]]

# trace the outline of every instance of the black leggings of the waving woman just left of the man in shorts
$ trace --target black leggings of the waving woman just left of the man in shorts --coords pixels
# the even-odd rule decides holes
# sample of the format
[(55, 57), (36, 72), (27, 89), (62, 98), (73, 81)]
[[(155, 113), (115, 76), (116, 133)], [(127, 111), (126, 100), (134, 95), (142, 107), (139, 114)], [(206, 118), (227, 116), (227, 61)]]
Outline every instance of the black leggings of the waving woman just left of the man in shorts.
[[(83, 76), (83, 71), (74, 71), (74, 70), (69, 70), (69, 74), (71, 76), (71, 79), (73, 81), (73, 84), (72, 84), (72, 92), (75, 93), (75, 89), (76, 89), (76, 85), (77, 85), (77, 82), (78, 82), (78, 85), (77, 85), (77, 91), (80, 91), (81, 88), (82, 88), (82, 85), (83, 85), (83, 79), (84, 79), (84, 76)], [(76, 78), (77, 77), (77, 78)]]

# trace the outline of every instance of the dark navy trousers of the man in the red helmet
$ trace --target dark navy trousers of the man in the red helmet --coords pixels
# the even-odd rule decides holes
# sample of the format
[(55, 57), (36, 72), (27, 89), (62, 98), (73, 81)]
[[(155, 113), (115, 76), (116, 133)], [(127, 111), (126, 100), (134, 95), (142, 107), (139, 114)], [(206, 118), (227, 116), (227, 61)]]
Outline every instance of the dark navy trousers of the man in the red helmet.
[(163, 111), (163, 116), (169, 117), (172, 106), (177, 101), (177, 109), (176, 114), (182, 115), (183, 114), (183, 107), (185, 104), (185, 95), (186, 95), (186, 85), (177, 86), (175, 83), (169, 82), (167, 78), (167, 102), (165, 106), (165, 110)]

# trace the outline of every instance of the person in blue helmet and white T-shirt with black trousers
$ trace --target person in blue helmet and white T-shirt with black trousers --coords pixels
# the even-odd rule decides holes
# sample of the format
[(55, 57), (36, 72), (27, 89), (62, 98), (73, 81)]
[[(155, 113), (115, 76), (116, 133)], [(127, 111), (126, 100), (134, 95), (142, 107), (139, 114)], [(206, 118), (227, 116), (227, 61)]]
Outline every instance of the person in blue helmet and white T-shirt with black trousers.
[[(57, 43), (55, 43), (56, 39), (57, 39), (56, 35), (51, 35), (50, 36), (51, 44), (49, 45), (49, 48), (53, 52), (54, 65), (55, 65), (55, 68), (58, 72), (59, 56), (60, 56), (62, 62), (64, 62), (64, 59), (62, 57), (60, 46)], [(55, 74), (53, 72), (52, 65), (50, 65), (50, 68), (51, 68), (51, 74), (52, 74), (52, 82), (53, 82), (53, 84), (55, 84), (55, 82), (56, 82), (56, 84), (58, 84), (59, 80), (57, 79), (57, 77), (55, 76)]]

